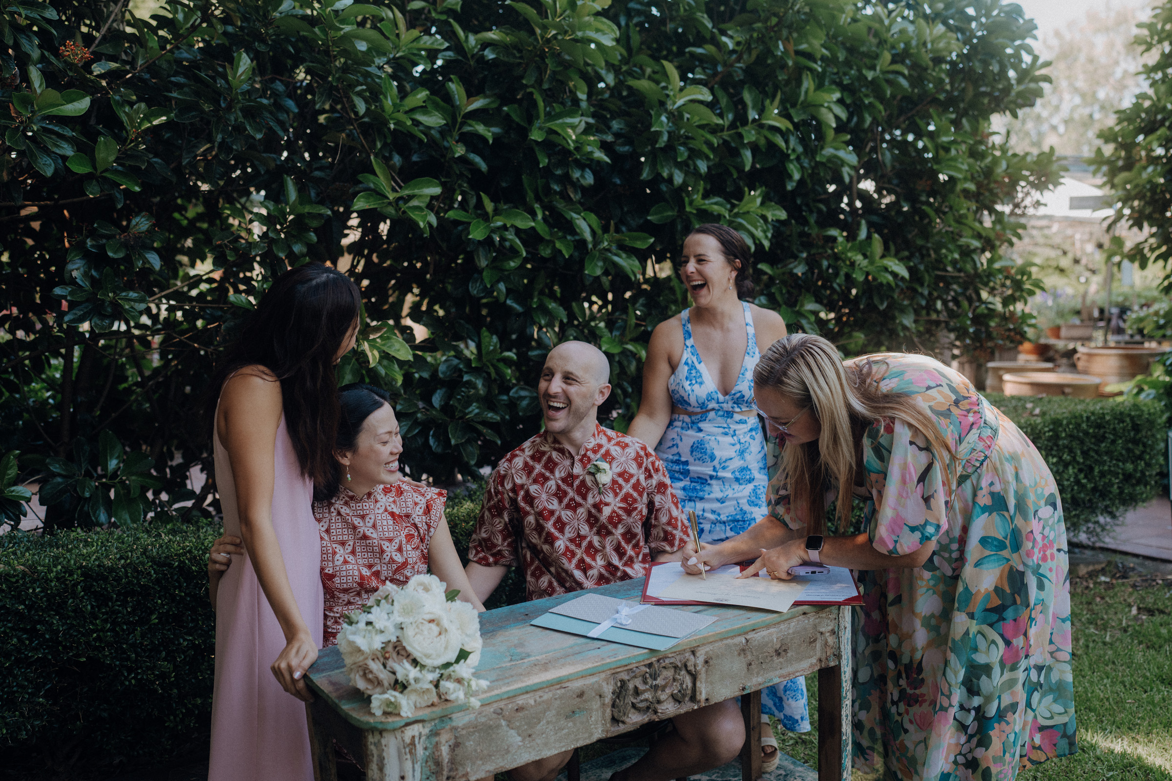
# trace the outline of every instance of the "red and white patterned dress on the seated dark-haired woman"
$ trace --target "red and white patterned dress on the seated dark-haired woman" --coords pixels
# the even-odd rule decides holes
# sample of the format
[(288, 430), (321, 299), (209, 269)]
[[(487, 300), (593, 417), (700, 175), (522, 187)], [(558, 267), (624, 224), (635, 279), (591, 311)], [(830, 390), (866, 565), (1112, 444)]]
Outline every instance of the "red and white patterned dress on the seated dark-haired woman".
[(346, 614), (386, 583), (403, 585), (427, 574), (428, 548), (447, 496), (438, 488), (396, 482), (375, 486), (364, 496), (343, 486), (329, 501), (313, 503), (326, 603), (322, 648), (338, 643)]

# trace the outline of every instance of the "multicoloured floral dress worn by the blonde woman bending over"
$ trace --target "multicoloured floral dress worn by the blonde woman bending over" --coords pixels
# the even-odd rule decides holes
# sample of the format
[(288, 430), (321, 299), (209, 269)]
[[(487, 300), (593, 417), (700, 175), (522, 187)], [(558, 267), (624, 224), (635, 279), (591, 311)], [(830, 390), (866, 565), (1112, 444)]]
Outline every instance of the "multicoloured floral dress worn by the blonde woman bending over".
[[(868, 535), (919, 569), (859, 573), (854, 767), (881, 777), (1014, 779), (1076, 752), (1070, 581), (1062, 501), (1034, 444), (960, 374), (883, 354), (872, 379), (933, 413), (958, 487), (922, 433), (879, 420), (864, 436)], [(851, 365), (851, 362), (847, 363)], [(949, 495), (950, 494), (950, 495)], [(793, 516), (784, 474), (775, 518)]]

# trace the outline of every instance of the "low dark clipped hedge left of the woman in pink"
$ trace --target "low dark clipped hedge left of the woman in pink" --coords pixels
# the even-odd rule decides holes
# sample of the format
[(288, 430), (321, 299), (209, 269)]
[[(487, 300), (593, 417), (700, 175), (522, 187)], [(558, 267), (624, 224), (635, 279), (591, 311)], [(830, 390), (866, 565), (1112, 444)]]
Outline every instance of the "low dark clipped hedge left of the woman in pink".
[(75, 758), (158, 760), (206, 740), (218, 533), (0, 536), (0, 763), (43, 756), (64, 773)]

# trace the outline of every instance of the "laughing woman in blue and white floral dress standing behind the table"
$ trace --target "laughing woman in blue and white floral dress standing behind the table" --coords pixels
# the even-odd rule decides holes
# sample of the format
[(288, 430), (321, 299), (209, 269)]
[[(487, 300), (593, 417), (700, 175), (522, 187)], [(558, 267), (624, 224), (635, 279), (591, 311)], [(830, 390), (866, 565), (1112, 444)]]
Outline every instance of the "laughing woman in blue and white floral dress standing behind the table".
[[(781, 316), (752, 297), (749, 247), (732, 228), (701, 225), (683, 242), (680, 276), (693, 306), (660, 323), (643, 366), (643, 397), (627, 433), (655, 448), (680, 506), (695, 511), (700, 539), (716, 543), (769, 512), (765, 436), (752, 400), (752, 370), (785, 336)], [(791, 732), (810, 729), (805, 679), (762, 692), (762, 710)], [(764, 731), (764, 768), (776, 741)]]

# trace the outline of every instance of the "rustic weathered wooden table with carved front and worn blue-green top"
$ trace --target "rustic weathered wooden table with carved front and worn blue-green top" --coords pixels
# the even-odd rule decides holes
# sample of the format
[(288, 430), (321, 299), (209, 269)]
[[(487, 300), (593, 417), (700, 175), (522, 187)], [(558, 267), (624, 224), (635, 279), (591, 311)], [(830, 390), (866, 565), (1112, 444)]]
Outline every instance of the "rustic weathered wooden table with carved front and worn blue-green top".
[[(640, 598), (642, 581), (595, 589)], [(818, 671), (818, 777), (850, 779), (851, 608), (785, 614), (691, 605), (717, 621), (667, 651), (557, 632), (529, 622), (581, 592), (481, 615), (489, 681), (481, 707), (444, 703), (406, 719), (376, 717), (354, 688), (336, 648), (308, 672), (316, 781), (335, 781), (333, 741), (364, 758), (370, 781), (471, 781), (620, 735), (730, 697), (742, 697), (749, 738), (742, 776), (761, 776), (761, 688)]]

